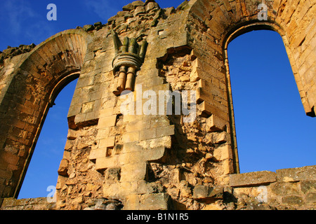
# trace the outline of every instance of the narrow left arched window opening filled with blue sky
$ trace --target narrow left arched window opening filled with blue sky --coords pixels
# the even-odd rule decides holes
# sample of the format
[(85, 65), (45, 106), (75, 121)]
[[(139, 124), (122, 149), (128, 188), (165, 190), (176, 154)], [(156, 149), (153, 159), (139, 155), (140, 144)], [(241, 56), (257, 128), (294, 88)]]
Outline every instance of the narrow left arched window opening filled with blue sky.
[(77, 79), (65, 85), (49, 109), (18, 199), (46, 197), (52, 192), (48, 187), (55, 187), (67, 140), (67, 113), (76, 85)]

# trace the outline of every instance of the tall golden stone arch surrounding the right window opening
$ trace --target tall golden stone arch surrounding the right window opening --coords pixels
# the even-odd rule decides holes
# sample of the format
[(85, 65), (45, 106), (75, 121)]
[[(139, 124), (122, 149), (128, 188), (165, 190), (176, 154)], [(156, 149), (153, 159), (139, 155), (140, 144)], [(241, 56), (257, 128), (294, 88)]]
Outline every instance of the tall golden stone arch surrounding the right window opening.
[[(216, 114), (229, 123), (229, 148), (232, 150), (228, 150), (226, 160), (232, 162), (229, 162), (228, 173), (239, 173), (227, 54), (232, 39), (255, 29), (277, 31), (284, 41), (305, 113), (315, 117), (315, 41), (312, 38), (316, 30), (312, 18), (316, 3), (265, 1), (268, 7), (266, 20), (258, 19), (259, 3), (252, 0), (195, 0), (188, 3), (187, 31), (194, 37), (189, 41), (198, 59), (200, 87), (205, 89), (202, 92), (212, 92), (214, 98), (210, 99), (209, 94), (199, 95), (199, 101), (203, 102), (202, 111)], [(220, 100), (216, 101), (215, 96)]]

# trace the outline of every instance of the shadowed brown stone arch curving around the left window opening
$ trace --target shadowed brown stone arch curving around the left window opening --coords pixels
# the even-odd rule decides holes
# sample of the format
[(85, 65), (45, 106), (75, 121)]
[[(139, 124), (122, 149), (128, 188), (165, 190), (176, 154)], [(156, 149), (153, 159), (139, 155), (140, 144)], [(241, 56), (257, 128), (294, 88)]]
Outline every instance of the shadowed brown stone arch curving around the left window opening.
[(65, 85), (79, 77), (90, 36), (62, 31), (37, 45), (18, 63), (0, 102), (0, 199), (18, 197), (39, 132)]

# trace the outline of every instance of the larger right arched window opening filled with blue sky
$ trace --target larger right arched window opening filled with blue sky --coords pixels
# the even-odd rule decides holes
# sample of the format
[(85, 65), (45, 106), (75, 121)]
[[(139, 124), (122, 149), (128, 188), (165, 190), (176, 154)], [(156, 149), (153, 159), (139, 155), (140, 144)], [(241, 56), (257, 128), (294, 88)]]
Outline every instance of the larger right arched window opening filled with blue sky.
[(240, 172), (315, 165), (316, 120), (305, 115), (281, 36), (242, 34), (228, 60)]

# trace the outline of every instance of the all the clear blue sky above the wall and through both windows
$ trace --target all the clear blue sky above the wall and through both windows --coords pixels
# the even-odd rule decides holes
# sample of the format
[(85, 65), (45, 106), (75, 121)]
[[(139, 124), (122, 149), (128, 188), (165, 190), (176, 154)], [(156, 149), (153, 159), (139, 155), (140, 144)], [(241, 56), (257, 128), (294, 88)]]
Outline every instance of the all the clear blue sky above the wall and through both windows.
[[(0, 50), (39, 44), (65, 29), (106, 23), (130, 2), (2, 0)], [(183, 0), (157, 2), (168, 8)], [(46, 19), (48, 3), (56, 4), (57, 21)], [(305, 116), (279, 34), (244, 34), (230, 43), (228, 54), (241, 172), (315, 165), (316, 118)], [(19, 198), (46, 197), (46, 188), (56, 184), (75, 85), (76, 81), (60, 92), (48, 113)]]

